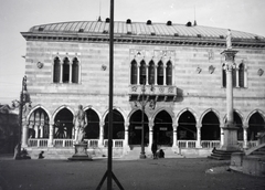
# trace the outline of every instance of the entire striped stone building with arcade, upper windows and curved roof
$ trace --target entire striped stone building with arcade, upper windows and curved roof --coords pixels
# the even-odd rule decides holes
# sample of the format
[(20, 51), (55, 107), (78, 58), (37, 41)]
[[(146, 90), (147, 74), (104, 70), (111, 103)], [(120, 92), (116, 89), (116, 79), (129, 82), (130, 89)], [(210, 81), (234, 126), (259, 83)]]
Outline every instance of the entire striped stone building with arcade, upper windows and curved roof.
[[(25, 75), (32, 109), (22, 147), (73, 148), (73, 115), (83, 105), (88, 147), (104, 149), (108, 128), (109, 19), (32, 27)], [(226, 29), (115, 22), (114, 140), (123, 150), (145, 144), (212, 149), (226, 118)], [(255, 145), (265, 127), (265, 38), (232, 30), (234, 118), (239, 146)], [(144, 106), (142, 106), (144, 105)]]

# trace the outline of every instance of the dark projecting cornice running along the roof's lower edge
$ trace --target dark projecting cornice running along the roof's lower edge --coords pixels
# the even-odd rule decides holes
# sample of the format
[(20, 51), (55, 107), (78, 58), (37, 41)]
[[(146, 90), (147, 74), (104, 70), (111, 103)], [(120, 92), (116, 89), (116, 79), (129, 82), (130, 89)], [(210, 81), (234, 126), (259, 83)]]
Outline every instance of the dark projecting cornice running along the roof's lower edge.
[[(26, 41), (46, 41), (46, 42), (80, 42), (80, 43), (107, 43), (108, 34), (89, 34), (86, 33), (34, 33), (21, 32)], [(220, 46), (225, 48), (225, 39), (202, 38), (202, 36), (150, 36), (150, 35), (114, 35), (115, 43), (132, 44), (158, 44), (158, 45), (184, 45), (184, 46)], [(265, 49), (264, 40), (232, 39), (233, 48), (255, 48)]]

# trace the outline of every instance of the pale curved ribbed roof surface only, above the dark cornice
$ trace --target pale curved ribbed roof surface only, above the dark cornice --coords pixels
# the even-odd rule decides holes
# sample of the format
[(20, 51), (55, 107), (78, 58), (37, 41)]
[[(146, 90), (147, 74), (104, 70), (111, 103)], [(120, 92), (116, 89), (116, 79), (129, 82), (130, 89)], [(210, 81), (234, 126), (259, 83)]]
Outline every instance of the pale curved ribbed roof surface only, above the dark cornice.
[[(188, 27), (190, 25), (190, 27)], [(35, 25), (30, 29), (30, 32), (52, 32), (52, 33), (108, 33), (109, 22), (106, 21), (73, 21), (60, 22)], [(150, 20), (145, 22), (126, 22), (116, 21), (114, 23), (115, 34), (132, 34), (132, 35), (158, 35), (158, 36), (194, 36), (198, 38), (220, 38), (226, 36), (227, 29), (192, 25), (191, 22), (187, 24), (174, 24), (171, 21), (167, 23), (152, 23)], [(264, 36), (233, 31), (235, 39), (265, 39)]]

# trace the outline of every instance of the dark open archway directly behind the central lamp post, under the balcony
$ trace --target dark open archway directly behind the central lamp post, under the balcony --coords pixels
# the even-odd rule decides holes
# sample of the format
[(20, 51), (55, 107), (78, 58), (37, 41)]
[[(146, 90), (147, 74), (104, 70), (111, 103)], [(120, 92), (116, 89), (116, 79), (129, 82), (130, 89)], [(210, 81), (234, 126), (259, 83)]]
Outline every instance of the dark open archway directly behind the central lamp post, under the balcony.
[[(129, 125), (129, 145), (141, 145), (141, 110), (135, 112), (130, 117)], [(144, 114), (144, 130), (145, 130), (145, 145), (149, 142), (149, 127), (148, 127), (148, 118), (146, 114)]]

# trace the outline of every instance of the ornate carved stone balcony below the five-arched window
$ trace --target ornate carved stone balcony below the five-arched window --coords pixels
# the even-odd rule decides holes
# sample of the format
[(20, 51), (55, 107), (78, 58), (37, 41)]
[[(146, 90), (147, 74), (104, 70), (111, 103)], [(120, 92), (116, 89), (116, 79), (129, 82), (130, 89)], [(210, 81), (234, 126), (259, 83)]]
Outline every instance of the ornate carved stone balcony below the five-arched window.
[(145, 94), (145, 96), (153, 96), (156, 101), (162, 97), (163, 101), (167, 101), (168, 97), (172, 97), (172, 101), (177, 98), (177, 86), (163, 86), (163, 85), (129, 85), (129, 96), (137, 97), (140, 99), (140, 96)]

